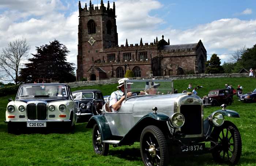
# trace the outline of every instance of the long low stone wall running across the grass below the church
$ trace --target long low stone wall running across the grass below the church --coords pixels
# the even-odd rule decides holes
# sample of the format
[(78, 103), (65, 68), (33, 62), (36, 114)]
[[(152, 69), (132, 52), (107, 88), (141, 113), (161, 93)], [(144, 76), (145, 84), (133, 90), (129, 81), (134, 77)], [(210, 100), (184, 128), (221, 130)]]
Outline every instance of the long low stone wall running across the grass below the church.
[[(231, 74), (193, 74), (193, 75), (173, 75), (173, 76), (155, 76), (155, 79), (196, 79), (196, 78), (219, 78), (219, 77), (249, 77), (248, 73), (231, 73)], [(153, 77), (133, 77), (129, 79), (152, 79)], [(107, 85), (116, 84), (120, 78), (103, 79), (96, 81), (79, 81), (66, 83), (71, 88), (83, 87), (83, 86), (94, 86), (94, 85)]]

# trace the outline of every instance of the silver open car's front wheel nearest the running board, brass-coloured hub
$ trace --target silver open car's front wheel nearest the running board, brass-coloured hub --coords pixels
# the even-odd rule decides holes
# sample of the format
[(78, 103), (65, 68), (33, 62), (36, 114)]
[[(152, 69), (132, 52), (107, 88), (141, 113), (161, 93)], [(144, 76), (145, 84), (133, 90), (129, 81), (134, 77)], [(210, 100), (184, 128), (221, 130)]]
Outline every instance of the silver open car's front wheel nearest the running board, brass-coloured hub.
[(145, 166), (167, 166), (168, 146), (162, 131), (156, 126), (147, 126), (140, 137), (140, 154)]

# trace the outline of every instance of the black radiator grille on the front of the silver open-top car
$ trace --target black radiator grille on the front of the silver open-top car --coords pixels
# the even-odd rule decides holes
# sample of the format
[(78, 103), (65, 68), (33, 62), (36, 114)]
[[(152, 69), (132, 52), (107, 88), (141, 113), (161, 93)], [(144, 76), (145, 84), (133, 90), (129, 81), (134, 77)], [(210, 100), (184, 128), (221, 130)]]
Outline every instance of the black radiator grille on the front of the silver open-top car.
[(201, 105), (181, 105), (180, 113), (185, 117), (181, 132), (186, 135), (202, 133), (202, 107)]

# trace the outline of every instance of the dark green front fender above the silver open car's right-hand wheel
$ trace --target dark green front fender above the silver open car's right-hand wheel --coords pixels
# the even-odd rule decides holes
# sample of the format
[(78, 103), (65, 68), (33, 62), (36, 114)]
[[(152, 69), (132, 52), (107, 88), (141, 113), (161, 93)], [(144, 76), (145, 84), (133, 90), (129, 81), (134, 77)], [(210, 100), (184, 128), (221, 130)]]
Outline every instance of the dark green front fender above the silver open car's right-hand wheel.
[[(212, 112), (212, 114), (214, 114), (215, 112), (221, 112), (224, 116), (229, 116), (229, 117), (233, 117), (233, 118), (240, 118), (240, 115), (238, 114), (238, 112), (233, 111), (233, 110), (218, 110), (218, 111)], [(208, 118), (210, 116), (208, 116), (204, 120), (204, 136), (210, 135), (211, 131), (212, 131), (212, 128), (214, 127), (214, 126), (210, 125), (210, 123), (208, 122)]]

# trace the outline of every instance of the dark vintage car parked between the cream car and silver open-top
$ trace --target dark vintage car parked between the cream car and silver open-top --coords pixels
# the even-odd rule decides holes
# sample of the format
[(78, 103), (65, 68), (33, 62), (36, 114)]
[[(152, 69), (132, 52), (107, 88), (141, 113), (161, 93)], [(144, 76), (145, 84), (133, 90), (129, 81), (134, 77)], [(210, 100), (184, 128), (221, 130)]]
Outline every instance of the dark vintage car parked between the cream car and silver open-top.
[(97, 89), (79, 90), (72, 92), (74, 100), (78, 102), (78, 118), (82, 116), (100, 115), (105, 104), (102, 92)]

